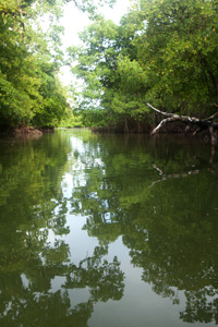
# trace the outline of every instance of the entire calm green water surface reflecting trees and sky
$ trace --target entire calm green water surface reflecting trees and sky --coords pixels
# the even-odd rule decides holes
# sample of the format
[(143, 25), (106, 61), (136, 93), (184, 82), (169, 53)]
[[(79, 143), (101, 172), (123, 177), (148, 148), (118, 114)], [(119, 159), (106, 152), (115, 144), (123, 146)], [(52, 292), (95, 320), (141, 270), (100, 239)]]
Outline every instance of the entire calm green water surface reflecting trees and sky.
[(0, 141), (0, 326), (218, 324), (218, 156), (172, 138)]

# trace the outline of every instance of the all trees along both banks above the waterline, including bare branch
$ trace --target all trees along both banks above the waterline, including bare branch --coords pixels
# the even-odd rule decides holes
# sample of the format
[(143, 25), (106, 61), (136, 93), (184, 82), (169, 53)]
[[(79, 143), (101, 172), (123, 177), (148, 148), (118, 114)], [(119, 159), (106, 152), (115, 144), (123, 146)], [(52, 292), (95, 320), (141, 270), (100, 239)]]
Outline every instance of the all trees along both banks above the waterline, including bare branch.
[[(89, 128), (199, 134), (217, 142), (217, 1), (135, 0), (117, 25), (99, 14), (104, 1), (94, 7), (82, 0), (76, 5), (92, 24), (80, 35), (82, 46), (69, 47), (68, 59), (59, 23), (65, 2), (1, 0), (0, 131), (39, 135)], [(84, 81), (81, 92), (62, 86), (64, 64)]]

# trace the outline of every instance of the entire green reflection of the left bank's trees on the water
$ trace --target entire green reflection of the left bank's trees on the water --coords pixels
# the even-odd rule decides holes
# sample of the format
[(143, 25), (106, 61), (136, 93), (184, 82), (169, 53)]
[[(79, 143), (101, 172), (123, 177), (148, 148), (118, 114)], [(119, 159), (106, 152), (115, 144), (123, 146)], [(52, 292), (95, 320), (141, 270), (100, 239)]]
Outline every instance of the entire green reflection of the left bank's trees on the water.
[[(120, 300), (123, 272), (107, 246), (71, 262), (64, 237), (68, 199), (61, 181), (69, 170), (68, 134), (0, 143), (0, 325), (87, 326), (98, 301)], [(63, 278), (52, 290), (52, 281)], [(88, 299), (71, 304), (69, 290), (88, 288)]]

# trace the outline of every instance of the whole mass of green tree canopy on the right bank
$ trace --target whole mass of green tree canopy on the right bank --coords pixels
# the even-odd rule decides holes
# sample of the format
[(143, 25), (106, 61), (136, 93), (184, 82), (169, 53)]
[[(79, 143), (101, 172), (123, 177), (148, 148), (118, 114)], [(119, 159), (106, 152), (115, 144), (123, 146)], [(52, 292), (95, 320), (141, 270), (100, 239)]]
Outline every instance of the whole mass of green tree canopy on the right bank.
[(85, 81), (86, 118), (92, 110), (94, 123), (126, 128), (134, 120), (140, 129), (152, 118), (146, 102), (168, 112), (214, 113), (217, 26), (215, 0), (135, 0), (119, 26), (98, 19), (81, 35), (84, 46), (70, 49)]

